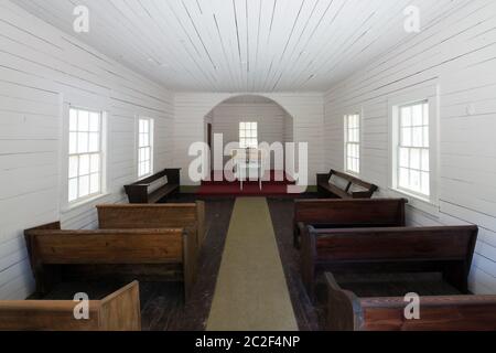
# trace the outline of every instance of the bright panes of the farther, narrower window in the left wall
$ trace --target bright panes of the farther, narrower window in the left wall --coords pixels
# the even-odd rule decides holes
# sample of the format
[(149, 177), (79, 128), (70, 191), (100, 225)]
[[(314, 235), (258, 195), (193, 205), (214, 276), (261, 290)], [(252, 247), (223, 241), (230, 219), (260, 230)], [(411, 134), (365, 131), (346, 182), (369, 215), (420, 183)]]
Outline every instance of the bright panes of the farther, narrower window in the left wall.
[(138, 122), (138, 176), (153, 171), (153, 119), (140, 118)]

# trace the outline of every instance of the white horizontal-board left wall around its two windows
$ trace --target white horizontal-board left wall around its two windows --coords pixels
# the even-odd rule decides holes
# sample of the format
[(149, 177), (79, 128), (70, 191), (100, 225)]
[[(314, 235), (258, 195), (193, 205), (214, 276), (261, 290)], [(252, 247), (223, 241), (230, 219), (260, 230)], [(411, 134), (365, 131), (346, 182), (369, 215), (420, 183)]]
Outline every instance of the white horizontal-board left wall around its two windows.
[(96, 225), (94, 203), (61, 211), (63, 105), (107, 111), (109, 194), (96, 202), (114, 203), (137, 178), (137, 115), (155, 118), (157, 169), (171, 165), (173, 98), (9, 1), (0, 2), (0, 299), (23, 299), (33, 279), (22, 231)]

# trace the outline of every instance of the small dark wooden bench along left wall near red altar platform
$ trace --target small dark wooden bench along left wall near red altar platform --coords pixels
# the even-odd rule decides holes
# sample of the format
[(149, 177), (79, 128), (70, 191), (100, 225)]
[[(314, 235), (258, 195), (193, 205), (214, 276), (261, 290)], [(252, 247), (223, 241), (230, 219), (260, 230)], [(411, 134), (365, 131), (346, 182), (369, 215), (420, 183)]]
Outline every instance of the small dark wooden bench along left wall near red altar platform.
[(163, 203), (177, 195), (181, 189), (181, 169), (165, 169), (160, 173), (126, 185), (129, 203)]

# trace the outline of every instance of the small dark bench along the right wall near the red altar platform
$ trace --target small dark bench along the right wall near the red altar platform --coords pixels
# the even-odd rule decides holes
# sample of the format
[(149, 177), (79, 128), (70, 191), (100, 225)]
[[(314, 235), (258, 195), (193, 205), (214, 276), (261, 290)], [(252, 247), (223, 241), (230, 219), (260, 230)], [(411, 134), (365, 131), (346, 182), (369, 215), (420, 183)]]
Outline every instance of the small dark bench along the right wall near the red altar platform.
[(317, 174), (317, 191), (321, 197), (370, 199), (379, 189), (358, 178), (331, 170), (328, 174)]

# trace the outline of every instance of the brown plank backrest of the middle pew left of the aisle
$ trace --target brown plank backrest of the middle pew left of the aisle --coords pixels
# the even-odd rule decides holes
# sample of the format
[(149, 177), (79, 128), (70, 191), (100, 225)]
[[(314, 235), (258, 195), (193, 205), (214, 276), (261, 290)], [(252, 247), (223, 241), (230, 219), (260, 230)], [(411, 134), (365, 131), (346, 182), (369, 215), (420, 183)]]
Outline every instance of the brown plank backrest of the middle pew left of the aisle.
[(33, 265), (170, 264), (184, 259), (177, 229), (26, 231)]

